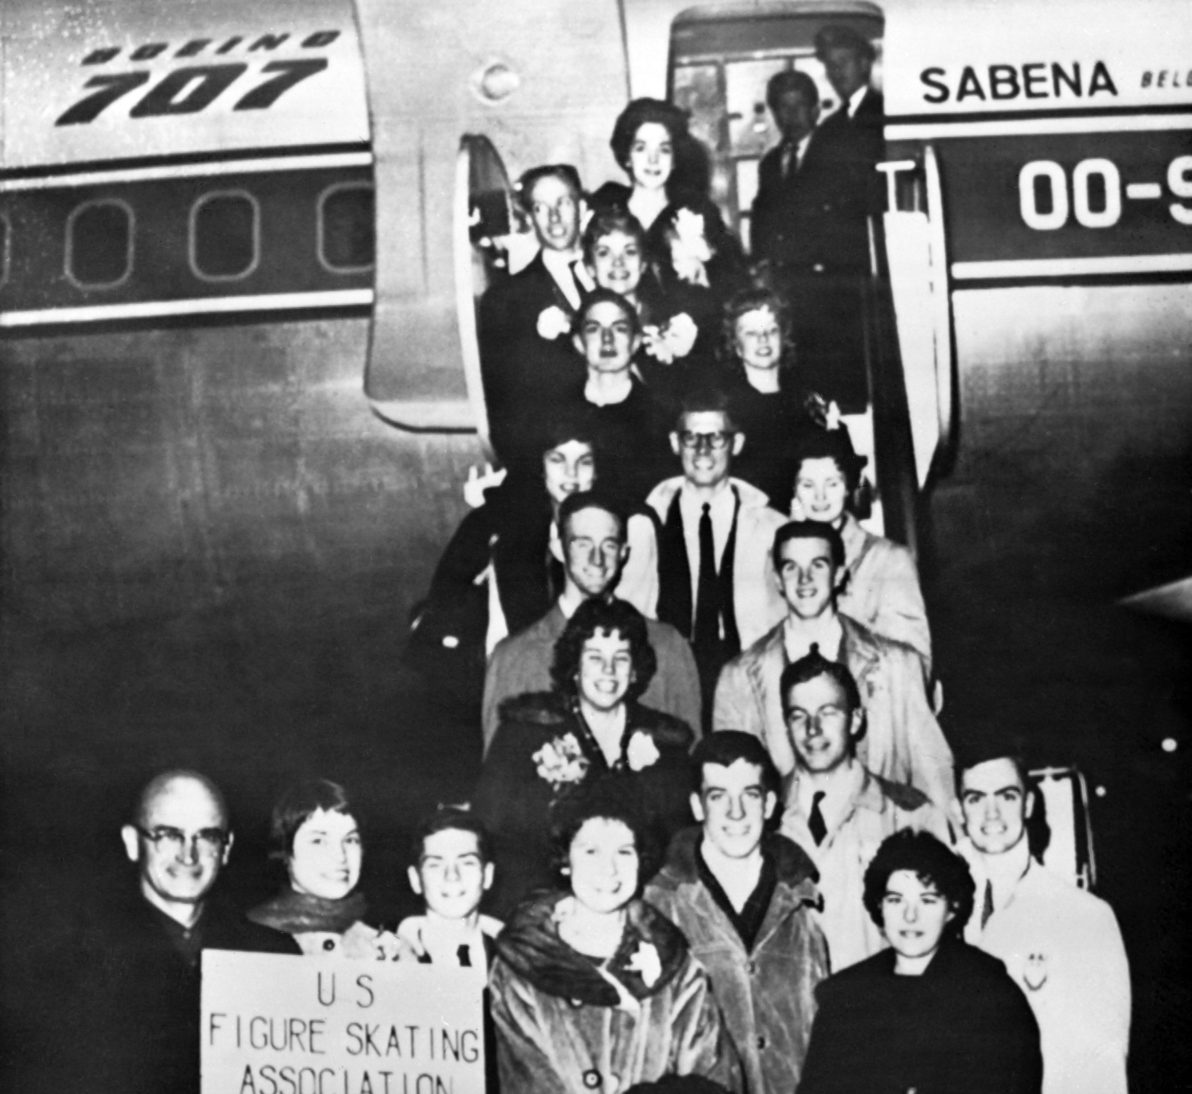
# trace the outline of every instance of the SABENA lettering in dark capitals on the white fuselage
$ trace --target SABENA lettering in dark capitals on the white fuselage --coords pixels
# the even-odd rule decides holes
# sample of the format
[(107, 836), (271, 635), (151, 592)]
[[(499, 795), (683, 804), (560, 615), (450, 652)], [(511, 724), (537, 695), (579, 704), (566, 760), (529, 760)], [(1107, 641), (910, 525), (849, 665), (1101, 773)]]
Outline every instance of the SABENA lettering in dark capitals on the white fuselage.
[[(1149, 74), (1146, 74), (1149, 75)], [(1146, 80), (1144, 75), (1144, 80)], [(1192, 75), (1192, 74), (1190, 74)], [(923, 100), (940, 102), (1011, 101), (1014, 99), (1092, 99), (1095, 95), (1117, 95), (1117, 85), (1109, 66), (1097, 61), (1082, 68), (1079, 61), (1062, 64), (1057, 61), (1035, 61), (1029, 64), (991, 64), (977, 69), (966, 64), (958, 75), (955, 69), (925, 68), (919, 81), (926, 88)], [(1146, 82), (1143, 87), (1146, 87)]]

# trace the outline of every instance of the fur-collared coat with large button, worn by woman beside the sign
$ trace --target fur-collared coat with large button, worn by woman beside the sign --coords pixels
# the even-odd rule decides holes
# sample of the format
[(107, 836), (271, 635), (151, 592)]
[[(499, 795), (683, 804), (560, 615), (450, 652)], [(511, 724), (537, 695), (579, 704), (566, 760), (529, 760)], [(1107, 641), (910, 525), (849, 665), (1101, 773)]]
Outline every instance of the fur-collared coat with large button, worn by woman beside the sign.
[[(707, 972), (679, 930), (634, 900), (621, 945), (601, 964), (559, 938), (564, 897), (528, 901), (496, 940), (490, 990), (501, 1088), (613, 1094), (664, 1075), (703, 1075), (740, 1090)], [(651, 949), (656, 964), (635, 959)], [(647, 975), (631, 963), (653, 968)]]

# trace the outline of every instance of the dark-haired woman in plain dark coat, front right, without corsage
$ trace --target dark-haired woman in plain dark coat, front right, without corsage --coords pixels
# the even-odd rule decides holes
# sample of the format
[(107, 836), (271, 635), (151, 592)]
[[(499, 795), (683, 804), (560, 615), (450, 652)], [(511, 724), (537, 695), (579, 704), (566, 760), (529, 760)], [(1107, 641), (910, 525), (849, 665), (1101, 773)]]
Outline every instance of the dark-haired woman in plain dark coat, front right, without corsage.
[(964, 860), (899, 832), (865, 871), (865, 909), (889, 950), (828, 977), (799, 1094), (1038, 1094), (1039, 1031), (995, 957), (961, 940)]

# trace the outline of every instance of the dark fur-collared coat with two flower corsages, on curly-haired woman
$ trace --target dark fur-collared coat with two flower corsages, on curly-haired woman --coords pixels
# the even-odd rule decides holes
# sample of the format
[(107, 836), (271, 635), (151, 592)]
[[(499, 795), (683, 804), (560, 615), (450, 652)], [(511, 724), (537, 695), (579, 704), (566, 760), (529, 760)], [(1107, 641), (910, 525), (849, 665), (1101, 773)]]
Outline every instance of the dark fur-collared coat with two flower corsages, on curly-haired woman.
[[(626, 705), (621, 756), (613, 770), (637, 781), (665, 839), (691, 822), (687, 758), (694, 740), (685, 722), (650, 707)], [(555, 760), (564, 754), (571, 757), (569, 763)], [(553, 882), (551, 803), (567, 787), (608, 770), (575, 701), (551, 691), (502, 704), (501, 725), (472, 795), (472, 808), (492, 835), (493, 915), (507, 919), (530, 890)]]

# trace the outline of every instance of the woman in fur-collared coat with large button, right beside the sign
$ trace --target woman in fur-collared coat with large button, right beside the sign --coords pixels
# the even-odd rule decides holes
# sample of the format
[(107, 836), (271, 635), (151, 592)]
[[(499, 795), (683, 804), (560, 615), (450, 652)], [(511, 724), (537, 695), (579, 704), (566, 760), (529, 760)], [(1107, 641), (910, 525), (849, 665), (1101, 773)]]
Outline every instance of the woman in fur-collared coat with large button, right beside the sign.
[(678, 927), (640, 900), (660, 858), (641, 797), (634, 781), (604, 775), (552, 810), (561, 889), (521, 905), (495, 943), (505, 1090), (625, 1090), (666, 1075), (739, 1089), (707, 974)]

